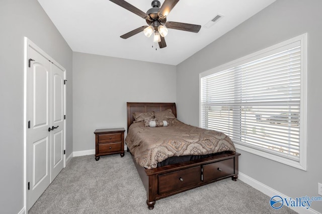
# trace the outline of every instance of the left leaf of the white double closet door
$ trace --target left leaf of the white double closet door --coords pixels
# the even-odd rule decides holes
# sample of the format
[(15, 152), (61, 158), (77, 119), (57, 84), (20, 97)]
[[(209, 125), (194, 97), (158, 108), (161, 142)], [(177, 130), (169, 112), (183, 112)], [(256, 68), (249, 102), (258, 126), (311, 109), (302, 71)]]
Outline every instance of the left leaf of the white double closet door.
[(28, 209), (50, 184), (51, 63), (29, 48), (27, 178)]

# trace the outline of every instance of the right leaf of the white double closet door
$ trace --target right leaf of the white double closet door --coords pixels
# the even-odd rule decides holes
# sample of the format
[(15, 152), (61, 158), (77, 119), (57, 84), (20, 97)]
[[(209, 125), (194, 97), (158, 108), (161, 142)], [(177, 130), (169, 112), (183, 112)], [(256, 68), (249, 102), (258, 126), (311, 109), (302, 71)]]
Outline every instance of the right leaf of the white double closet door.
[(51, 65), (51, 181), (64, 166), (64, 72)]

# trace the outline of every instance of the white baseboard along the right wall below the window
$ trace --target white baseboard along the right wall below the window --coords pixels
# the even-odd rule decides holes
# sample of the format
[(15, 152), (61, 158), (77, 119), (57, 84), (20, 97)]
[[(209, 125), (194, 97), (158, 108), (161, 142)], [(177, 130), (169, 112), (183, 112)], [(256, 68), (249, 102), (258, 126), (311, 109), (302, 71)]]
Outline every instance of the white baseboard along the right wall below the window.
[[(276, 191), (275, 189), (265, 185), (264, 183), (259, 182), (258, 180), (255, 180), (253, 178), (251, 178), (250, 176), (242, 173), (242, 172), (238, 172), (238, 179), (240, 179), (241, 181), (249, 184), (250, 186), (256, 188), (257, 190), (263, 192), (264, 194), (268, 195), (269, 197), (273, 197), (275, 195), (279, 195), (282, 198), (290, 198), (289, 196), (286, 196), (285, 194)], [(303, 195), (298, 195), (299, 197), (303, 196)], [(316, 201), (317, 202), (317, 201)], [(319, 202), (319, 201), (318, 201)], [(269, 204), (270, 201), (267, 201), (267, 203)], [(300, 214), (321, 214), (320, 212), (312, 209), (312, 208), (308, 208), (306, 209), (305, 207), (289, 207), (290, 209), (293, 209), (294, 211), (300, 213)]]

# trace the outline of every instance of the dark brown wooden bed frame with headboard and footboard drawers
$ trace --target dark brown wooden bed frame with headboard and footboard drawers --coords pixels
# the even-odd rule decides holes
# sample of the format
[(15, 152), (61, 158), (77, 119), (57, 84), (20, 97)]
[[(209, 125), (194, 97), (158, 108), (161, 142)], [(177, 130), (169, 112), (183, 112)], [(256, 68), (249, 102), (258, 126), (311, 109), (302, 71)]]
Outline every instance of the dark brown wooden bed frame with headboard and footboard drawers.
[[(164, 111), (171, 109), (177, 117), (176, 103), (127, 103), (127, 130), (134, 121), (133, 112)], [(128, 150), (129, 151), (129, 150)], [(133, 155), (133, 162), (146, 190), (146, 204), (154, 208), (155, 201), (179, 192), (215, 182), (217, 180), (238, 177), (237, 152), (146, 169), (139, 166)]]

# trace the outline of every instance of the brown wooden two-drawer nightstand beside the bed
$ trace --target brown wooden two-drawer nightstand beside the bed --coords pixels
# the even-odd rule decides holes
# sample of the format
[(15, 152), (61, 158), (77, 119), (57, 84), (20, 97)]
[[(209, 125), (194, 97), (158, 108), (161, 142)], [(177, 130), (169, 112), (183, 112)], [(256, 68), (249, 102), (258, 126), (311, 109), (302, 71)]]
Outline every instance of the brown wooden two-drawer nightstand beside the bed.
[(100, 156), (118, 154), (124, 156), (124, 128), (96, 129), (95, 134), (95, 160)]

